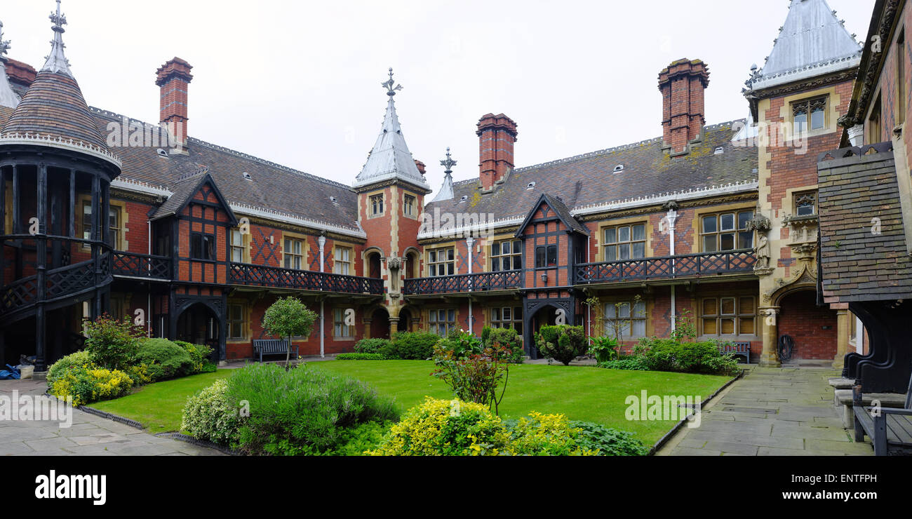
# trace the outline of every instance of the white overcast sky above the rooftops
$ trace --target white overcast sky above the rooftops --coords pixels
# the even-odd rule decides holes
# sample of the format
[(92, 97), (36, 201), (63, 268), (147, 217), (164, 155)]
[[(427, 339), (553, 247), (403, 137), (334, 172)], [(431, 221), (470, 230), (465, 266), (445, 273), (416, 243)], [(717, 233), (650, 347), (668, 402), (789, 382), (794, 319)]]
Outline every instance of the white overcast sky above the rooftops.
[[(478, 176), (475, 125), (519, 125), (516, 166), (661, 134), (658, 71), (710, 67), (709, 124), (747, 114), (788, 0), (64, 0), (67, 57), (91, 106), (158, 122), (155, 70), (193, 68), (192, 137), (350, 184), (377, 139), (393, 67), (399, 120), (430, 186), (445, 149)], [(874, 0), (829, 0), (859, 40)], [(40, 67), (52, 0), (4, 2), (9, 56)]]

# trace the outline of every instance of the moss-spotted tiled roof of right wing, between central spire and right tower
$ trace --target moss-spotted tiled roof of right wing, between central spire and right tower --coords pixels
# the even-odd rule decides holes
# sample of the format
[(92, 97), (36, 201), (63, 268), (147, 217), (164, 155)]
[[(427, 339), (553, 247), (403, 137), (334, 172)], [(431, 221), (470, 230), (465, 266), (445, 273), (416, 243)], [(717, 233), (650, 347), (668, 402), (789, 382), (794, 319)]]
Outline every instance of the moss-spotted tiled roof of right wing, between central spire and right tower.
[[(452, 200), (431, 202), (427, 210), (522, 220), (542, 193), (560, 197), (575, 210), (657, 193), (755, 182), (757, 149), (743, 141), (732, 142), (737, 133), (732, 124), (706, 127), (703, 140), (679, 158), (669, 157), (662, 150), (662, 139), (656, 138), (517, 168), (489, 193), (482, 192), (478, 179), (455, 182)], [(616, 171), (618, 166), (623, 169)]]

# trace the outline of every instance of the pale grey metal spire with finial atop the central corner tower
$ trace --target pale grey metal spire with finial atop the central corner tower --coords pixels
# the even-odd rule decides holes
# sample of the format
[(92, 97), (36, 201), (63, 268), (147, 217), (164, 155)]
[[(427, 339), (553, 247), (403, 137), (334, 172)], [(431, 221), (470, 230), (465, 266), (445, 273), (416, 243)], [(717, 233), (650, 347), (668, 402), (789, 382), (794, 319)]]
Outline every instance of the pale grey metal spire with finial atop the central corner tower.
[(387, 113), (383, 118), (383, 125), (373, 150), (368, 155), (368, 161), (355, 178), (354, 187), (363, 187), (369, 184), (390, 180), (409, 182), (422, 187), (430, 192), (428, 181), (418, 171), (414, 157), (411, 156), (409, 145), (402, 135), (399, 126), (399, 116), (396, 115), (396, 93), (402, 89), (393, 79), (393, 69), (389, 69), (389, 79), (380, 83), (387, 90)]

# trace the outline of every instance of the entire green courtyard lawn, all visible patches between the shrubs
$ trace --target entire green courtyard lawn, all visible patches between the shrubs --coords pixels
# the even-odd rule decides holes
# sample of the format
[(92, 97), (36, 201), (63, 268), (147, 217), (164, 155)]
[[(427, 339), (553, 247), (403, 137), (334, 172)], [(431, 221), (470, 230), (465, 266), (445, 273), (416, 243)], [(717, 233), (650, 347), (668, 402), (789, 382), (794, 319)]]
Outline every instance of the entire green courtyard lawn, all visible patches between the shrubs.
[[(450, 390), (430, 377), (433, 363), (424, 360), (336, 360), (311, 362), (307, 368), (326, 369), (368, 382), (382, 395), (392, 397), (399, 410), (424, 401), (425, 396), (450, 399)], [(91, 404), (98, 410), (137, 420), (150, 432), (178, 431), (181, 410), (187, 397), (231, 376), (232, 369), (184, 379), (150, 384), (120, 398)], [(628, 395), (693, 395), (706, 399), (728, 377), (666, 373), (660, 371), (619, 371), (580, 366), (523, 364), (510, 367), (510, 381), (501, 404), (501, 416), (519, 418), (531, 411), (562, 413), (570, 420), (596, 421), (609, 427), (632, 431), (651, 446), (665, 435), (674, 421), (629, 421), (625, 418)]]

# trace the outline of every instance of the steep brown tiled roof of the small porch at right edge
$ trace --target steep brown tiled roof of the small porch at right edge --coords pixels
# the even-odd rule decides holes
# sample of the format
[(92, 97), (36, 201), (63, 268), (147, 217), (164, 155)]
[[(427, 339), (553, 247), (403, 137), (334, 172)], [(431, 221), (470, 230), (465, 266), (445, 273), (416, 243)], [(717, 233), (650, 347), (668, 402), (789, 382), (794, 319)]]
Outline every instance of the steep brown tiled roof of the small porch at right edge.
[[(870, 148), (831, 152), (835, 158), (822, 156), (818, 166), (827, 303), (912, 297), (912, 258), (906, 248), (896, 162), (888, 151), (892, 147), (889, 142), (877, 144), (879, 152), (865, 155)], [(848, 151), (852, 156), (845, 157)]]

